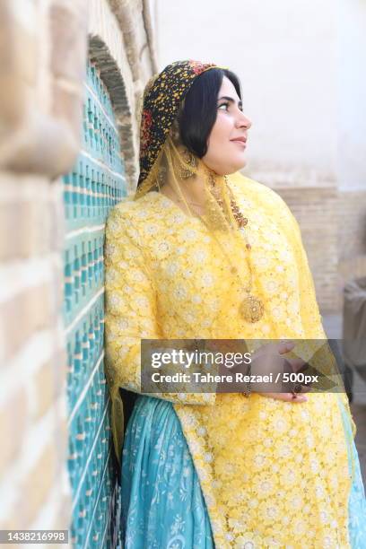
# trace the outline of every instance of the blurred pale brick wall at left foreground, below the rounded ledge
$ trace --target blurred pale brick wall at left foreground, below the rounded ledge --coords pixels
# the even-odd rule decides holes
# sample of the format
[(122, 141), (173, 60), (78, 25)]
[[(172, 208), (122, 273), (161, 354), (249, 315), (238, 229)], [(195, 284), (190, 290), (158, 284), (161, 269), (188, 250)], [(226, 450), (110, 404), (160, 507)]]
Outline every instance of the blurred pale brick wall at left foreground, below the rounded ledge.
[(69, 522), (62, 212), (47, 177), (0, 175), (2, 528)]

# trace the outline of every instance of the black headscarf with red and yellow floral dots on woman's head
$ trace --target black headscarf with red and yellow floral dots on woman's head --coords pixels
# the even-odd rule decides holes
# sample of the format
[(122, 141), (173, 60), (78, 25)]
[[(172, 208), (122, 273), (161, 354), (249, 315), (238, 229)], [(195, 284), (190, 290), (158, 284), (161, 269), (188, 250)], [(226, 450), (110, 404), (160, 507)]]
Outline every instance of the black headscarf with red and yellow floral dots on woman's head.
[(155, 75), (144, 92), (140, 126), (140, 175), (138, 186), (147, 178), (170, 132), (182, 100), (195, 78), (211, 68), (223, 68), (213, 63), (176, 61)]

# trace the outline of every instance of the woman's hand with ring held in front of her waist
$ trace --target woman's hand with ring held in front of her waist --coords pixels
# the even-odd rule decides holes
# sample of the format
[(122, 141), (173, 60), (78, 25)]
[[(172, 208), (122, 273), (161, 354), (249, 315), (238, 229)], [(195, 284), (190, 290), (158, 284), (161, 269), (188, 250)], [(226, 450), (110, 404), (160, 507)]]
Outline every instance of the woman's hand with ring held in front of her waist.
[[(273, 381), (256, 383), (251, 388), (252, 392), (294, 404), (308, 400), (303, 393), (308, 392), (309, 387), (301, 383), (294, 383), (293, 381), (283, 381), (283, 374), (300, 372), (307, 366), (307, 363), (302, 359), (283, 357), (283, 354), (292, 351), (294, 346), (295, 344), (292, 342), (271, 343), (263, 345), (253, 354), (251, 373), (258, 376), (269, 376), (272, 374)], [(275, 382), (277, 374), (279, 375), (279, 380)], [(271, 392), (271, 387), (275, 389), (274, 392)], [(263, 391), (261, 388), (263, 388)]]

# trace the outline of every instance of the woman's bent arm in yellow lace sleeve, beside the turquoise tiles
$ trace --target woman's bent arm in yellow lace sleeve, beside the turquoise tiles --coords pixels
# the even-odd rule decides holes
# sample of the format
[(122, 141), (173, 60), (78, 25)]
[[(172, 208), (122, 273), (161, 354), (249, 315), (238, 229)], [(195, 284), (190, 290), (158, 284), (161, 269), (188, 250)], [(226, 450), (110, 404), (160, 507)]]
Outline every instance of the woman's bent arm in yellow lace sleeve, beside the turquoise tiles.
[[(112, 393), (119, 388), (141, 393), (141, 339), (163, 336), (149, 258), (128, 211), (120, 206), (109, 213), (106, 227), (106, 370)], [(214, 393), (153, 396), (190, 405), (215, 401)]]

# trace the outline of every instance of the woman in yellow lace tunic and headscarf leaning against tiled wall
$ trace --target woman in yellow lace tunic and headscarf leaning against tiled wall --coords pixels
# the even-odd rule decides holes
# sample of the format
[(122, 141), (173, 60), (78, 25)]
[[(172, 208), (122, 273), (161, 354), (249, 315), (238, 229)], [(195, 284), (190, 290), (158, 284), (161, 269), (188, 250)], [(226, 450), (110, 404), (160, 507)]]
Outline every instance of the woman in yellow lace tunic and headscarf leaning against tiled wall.
[[(298, 225), (238, 172), (250, 126), (227, 69), (177, 62), (146, 87), (135, 199), (112, 210), (106, 236), (118, 456), (119, 388), (141, 392), (141, 338), (297, 338), (301, 358), (329, 370), (327, 353), (311, 358), (309, 340), (326, 335)], [(122, 453), (125, 545), (364, 547), (353, 435), (344, 394), (138, 396)]]

